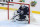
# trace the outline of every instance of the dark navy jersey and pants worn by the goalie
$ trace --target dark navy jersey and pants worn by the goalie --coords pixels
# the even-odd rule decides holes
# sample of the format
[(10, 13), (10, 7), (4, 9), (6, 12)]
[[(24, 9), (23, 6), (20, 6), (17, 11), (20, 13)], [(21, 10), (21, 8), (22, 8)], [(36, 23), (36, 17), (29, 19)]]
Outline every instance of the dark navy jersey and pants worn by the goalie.
[[(21, 12), (21, 11), (23, 11), (23, 12)], [(22, 6), (20, 6), (17, 13), (20, 13), (19, 14), (19, 19), (25, 19), (26, 16), (24, 16), (24, 15), (29, 15), (29, 8), (25, 6), (25, 8), (22, 9)]]

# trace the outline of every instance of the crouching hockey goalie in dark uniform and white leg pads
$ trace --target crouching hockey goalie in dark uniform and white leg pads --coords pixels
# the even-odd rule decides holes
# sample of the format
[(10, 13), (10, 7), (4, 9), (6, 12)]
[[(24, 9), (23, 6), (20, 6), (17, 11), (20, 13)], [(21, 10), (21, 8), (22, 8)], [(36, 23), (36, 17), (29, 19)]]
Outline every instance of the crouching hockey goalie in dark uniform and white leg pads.
[(14, 12), (13, 21), (29, 23), (29, 8), (25, 5), (21, 5), (17, 11)]

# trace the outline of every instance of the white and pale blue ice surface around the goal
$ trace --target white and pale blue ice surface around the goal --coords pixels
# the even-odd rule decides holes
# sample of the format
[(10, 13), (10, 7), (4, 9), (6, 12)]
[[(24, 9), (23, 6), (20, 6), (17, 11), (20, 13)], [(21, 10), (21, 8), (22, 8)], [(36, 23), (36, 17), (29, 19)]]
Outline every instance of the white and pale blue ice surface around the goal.
[[(13, 16), (11, 11), (10, 17)], [(40, 27), (40, 14), (33, 14), (36, 19), (36, 24), (18, 24), (8, 20), (8, 11), (0, 10), (0, 27)]]

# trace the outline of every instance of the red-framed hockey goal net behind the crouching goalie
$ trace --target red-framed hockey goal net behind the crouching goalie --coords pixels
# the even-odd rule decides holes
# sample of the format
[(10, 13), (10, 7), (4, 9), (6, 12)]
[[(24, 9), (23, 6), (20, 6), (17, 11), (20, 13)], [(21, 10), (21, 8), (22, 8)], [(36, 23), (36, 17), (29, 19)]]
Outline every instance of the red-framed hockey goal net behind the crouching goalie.
[(30, 23), (30, 5), (26, 3), (8, 2), (8, 20), (14, 16), (14, 11), (18, 10), (21, 5), (29, 7), (29, 23)]

